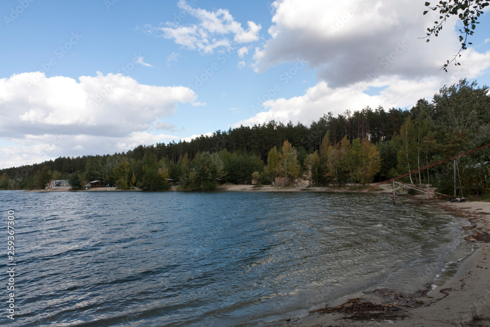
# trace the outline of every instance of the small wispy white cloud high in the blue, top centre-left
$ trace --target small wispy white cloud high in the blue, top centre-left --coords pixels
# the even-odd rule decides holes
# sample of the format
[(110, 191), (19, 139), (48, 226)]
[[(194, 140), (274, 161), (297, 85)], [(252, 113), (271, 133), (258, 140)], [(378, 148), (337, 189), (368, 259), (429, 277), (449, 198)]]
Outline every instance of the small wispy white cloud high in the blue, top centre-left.
[(262, 26), (252, 21), (247, 22), (247, 29), (235, 21), (226, 9), (207, 11), (194, 8), (185, 0), (179, 0), (178, 7), (195, 17), (199, 24), (180, 25), (167, 22), (161, 26), (143, 26), (149, 35), (173, 40), (176, 44), (202, 53), (213, 53), (216, 49), (231, 49), (232, 42), (250, 43), (259, 39)]

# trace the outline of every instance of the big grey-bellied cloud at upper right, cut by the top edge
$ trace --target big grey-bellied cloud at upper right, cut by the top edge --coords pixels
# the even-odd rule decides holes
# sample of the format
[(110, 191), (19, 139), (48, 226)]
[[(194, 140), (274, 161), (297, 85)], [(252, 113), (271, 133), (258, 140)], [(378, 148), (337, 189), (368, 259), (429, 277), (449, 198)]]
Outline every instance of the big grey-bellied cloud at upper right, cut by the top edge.
[(438, 38), (426, 43), (426, 28), (434, 22), (423, 1), (282, 0), (274, 3), (270, 39), (254, 53), (262, 72), (304, 58), (330, 87), (343, 87), (368, 75), (421, 78), (439, 73), (444, 61), (460, 47), (446, 22)]

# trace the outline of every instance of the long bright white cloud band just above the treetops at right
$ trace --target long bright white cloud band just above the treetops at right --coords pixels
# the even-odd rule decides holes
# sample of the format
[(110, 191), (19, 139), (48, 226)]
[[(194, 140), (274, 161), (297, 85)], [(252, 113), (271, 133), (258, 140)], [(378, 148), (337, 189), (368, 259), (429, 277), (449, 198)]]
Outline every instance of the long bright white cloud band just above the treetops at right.
[[(451, 67), (449, 73), (421, 78), (402, 75), (379, 75), (376, 79), (365, 78), (354, 84), (342, 87), (329, 87), (327, 82), (319, 81), (308, 88), (304, 95), (290, 99), (272, 99), (263, 103), (264, 110), (256, 112), (257, 106), (250, 106), (253, 116), (234, 125), (252, 126), (270, 120), (287, 123), (301, 122), (309, 125), (327, 112), (334, 116), (345, 110), (361, 110), (366, 106), (372, 109), (382, 106), (404, 108), (415, 105), (419, 99), (431, 100), (443, 85), (458, 83), (462, 78), (475, 78), (490, 67), (490, 51), (478, 53), (473, 49), (465, 51), (461, 66)], [(438, 71), (438, 70), (437, 70)], [(439, 72), (439, 71), (438, 71)], [(441, 73), (441, 72), (439, 72)], [(365, 92), (370, 87), (385, 87), (378, 95), (369, 96)]]

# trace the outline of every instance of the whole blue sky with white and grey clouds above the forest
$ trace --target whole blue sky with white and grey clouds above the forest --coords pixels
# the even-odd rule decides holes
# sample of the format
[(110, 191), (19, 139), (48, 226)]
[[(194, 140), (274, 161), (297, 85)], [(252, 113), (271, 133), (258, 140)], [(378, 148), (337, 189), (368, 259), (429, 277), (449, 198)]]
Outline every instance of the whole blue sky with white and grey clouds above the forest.
[(424, 2), (1, 1), (0, 168), (490, 85), (489, 14), (445, 73), (462, 24), (427, 43)]

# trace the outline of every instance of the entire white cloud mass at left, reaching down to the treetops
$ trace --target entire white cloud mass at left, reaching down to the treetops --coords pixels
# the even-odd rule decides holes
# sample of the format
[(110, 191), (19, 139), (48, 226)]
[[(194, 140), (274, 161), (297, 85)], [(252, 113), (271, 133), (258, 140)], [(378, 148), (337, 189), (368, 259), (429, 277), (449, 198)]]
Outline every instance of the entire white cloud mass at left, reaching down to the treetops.
[[(0, 147), (3, 167), (60, 155), (113, 153), (132, 145), (178, 139), (150, 134), (165, 126), (177, 103), (196, 102), (182, 86), (139, 84), (122, 74), (46, 77), (23, 73), (0, 79), (0, 138), (18, 147)], [(28, 155), (12, 155), (17, 149)], [(81, 153), (83, 152), (83, 153)]]

